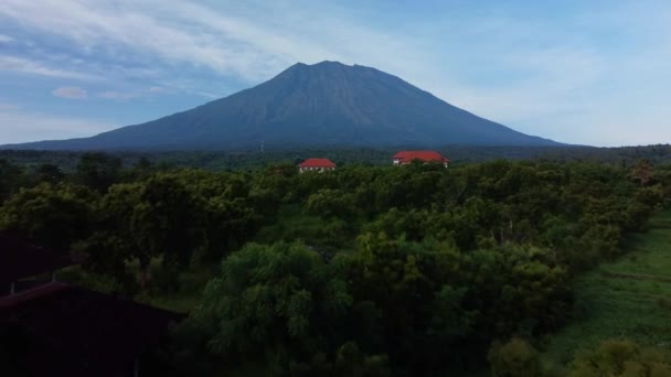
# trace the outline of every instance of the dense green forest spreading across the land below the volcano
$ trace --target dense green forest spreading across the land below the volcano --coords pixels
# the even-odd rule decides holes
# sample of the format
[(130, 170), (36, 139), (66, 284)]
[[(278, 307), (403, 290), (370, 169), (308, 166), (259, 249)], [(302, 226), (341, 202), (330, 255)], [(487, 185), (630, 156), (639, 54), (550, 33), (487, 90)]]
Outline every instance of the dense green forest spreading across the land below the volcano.
[[(155, 355), (166, 376), (557, 373), (540, 354), (574, 282), (671, 205), (664, 146), (449, 169), (341, 151), (305, 174), (288, 152), (219, 171), (39, 153), (0, 160), (0, 228), (82, 261), (61, 279), (188, 311)], [(564, 367), (671, 374), (654, 346), (613, 340)]]

